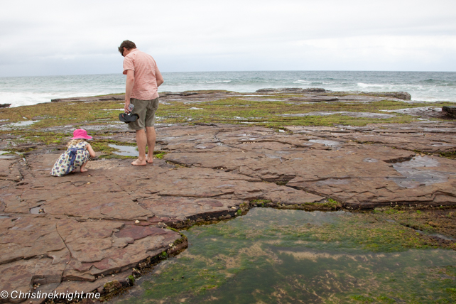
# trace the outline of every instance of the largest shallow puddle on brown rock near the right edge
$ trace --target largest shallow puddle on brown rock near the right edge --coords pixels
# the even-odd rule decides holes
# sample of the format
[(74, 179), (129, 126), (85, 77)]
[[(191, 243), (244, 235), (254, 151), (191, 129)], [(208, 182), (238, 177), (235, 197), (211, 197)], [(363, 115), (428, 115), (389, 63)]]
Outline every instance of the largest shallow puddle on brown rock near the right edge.
[[(438, 167), (440, 163), (437, 159), (429, 156), (416, 156), (410, 161), (403, 163), (393, 163), (398, 173), (404, 178), (389, 178), (402, 188), (416, 188), (420, 185), (432, 185), (435, 183), (445, 183), (450, 173), (443, 173), (427, 168)], [(418, 169), (419, 168), (419, 169)]]

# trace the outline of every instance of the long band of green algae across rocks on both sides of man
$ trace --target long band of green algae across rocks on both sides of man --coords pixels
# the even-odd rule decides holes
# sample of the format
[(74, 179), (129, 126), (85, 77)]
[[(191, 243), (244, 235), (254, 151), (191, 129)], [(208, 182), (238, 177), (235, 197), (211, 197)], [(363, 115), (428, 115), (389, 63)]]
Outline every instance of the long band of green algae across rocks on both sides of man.
[[(277, 94), (274, 98), (288, 98), (292, 94)], [(264, 97), (259, 95), (259, 97)], [(90, 124), (109, 124), (118, 121), (122, 108), (119, 101), (99, 102), (55, 102), (35, 104), (16, 108), (5, 108), (0, 110), (0, 119), (9, 119), (11, 122), (18, 122), (30, 119), (38, 119), (35, 124), (25, 126), (18, 130), (20, 133), (26, 130), (36, 130), (51, 126), (87, 126)], [(443, 107), (447, 102), (433, 104), (433, 107)], [(378, 102), (311, 102), (308, 104), (294, 104), (283, 101), (252, 101), (240, 97), (229, 97), (219, 99), (215, 102), (202, 102), (199, 110), (190, 110), (192, 104), (183, 102), (169, 102), (161, 104), (157, 111), (157, 120), (163, 123), (229, 123), (252, 122), (257, 125), (281, 127), (284, 125), (314, 125), (332, 126), (333, 124), (344, 124), (352, 126), (364, 126), (369, 123), (391, 122), (406, 123), (416, 121), (417, 117), (395, 114), (390, 119), (376, 119), (366, 117), (350, 117), (340, 114), (327, 116), (302, 116), (283, 117), (281, 114), (303, 114), (309, 112), (371, 112), (382, 113), (384, 109), (403, 109), (413, 107), (427, 107), (425, 102), (395, 102), (383, 100)], [(189, 120), (190, 119), (190, 120)], [(3, 133), (4, 131), (0, 131)]]

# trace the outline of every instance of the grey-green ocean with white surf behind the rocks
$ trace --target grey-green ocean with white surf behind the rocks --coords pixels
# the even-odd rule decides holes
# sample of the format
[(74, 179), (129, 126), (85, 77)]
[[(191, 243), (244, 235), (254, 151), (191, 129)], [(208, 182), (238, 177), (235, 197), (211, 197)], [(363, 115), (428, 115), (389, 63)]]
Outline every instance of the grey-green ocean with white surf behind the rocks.
[[(159, 92), (226, 89), (255, 92), (268, 87), (321, 87), (332, 91), (409, 92), (412, 100), (456, 102), (456, 72), (252, 71), (163, 72)], [(125, 92), (119, 74), (0, 77), (0, 104), (11, 107), (50, 99)]]

